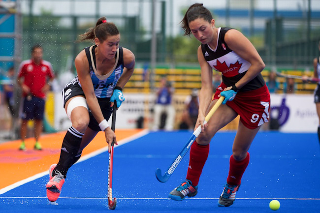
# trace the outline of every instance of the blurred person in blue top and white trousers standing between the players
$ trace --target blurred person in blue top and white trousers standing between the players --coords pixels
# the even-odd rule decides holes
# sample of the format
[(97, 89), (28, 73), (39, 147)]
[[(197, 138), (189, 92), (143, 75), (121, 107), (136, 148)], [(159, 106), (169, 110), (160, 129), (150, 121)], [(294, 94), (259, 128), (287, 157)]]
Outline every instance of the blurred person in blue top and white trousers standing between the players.
[(162, 77), (160, 81), (160, 88), (157, 91), (157, 102), (154, 108), (154, 130), (160, 128), (160, 120), (162, 113), (166, 114), (165, 130), (172, 130), (174, 123), (175, 111), (172, 106), (173, 88), (171, 84), (167, 82), (166, 77)]

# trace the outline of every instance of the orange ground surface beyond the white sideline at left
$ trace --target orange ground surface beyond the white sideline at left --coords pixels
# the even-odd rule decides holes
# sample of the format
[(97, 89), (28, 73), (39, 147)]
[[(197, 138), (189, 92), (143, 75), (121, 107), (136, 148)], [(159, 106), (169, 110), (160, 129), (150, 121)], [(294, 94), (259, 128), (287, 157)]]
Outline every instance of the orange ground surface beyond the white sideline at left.
[[(141, 131), (142, 129), (117, 129), (117, 141), (119, 142)], [(18, 150), (20, 140), (0, 144), (0, 170), (2, 171), (0, 189), (45, 172), (51, 164), (58, 163), (64, 135), (65, 131), (41, 136), (39, 142), (42, 151), (33, 150), (34, 138), (26, 139), (26, 151)], [(106, 146), (104, 133), (99, 132), (95, 139), (83, 150), (82, 156)]]

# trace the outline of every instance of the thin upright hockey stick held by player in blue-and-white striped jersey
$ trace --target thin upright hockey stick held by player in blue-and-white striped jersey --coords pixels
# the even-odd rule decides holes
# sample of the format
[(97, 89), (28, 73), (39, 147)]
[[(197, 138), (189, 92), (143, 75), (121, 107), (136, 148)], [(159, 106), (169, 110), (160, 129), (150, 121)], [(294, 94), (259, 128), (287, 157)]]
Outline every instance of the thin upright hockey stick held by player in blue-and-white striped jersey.
[[(115, 131), (115, 127), (116, 127), (116, 113), (117, 113), (117, 103), (115, 101), (114, 105), (113, 105), (113, 113), (112, 113), (112, 124), (111, 124), (112, 131)], [(110, 210), (116, 209), (116, 206), (117, 206), (116, 198), (113, 198), (113, 200), (112, 200), (113, 145), (114, 145), (114, 141), (112, 141), (111, 151), (109, 153), (108, 206), (109, 206)]]

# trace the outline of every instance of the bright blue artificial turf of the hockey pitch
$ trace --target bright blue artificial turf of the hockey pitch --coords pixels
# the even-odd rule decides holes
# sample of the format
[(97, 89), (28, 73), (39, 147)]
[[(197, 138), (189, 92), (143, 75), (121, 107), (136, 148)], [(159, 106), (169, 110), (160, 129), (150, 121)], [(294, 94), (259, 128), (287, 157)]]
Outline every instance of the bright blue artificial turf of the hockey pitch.
[[(280, 213), (318, 212), (320, 209), (320, 145), (316, 134), (259, 132), (249, 150), (250, 163), (235, 203), (217, 207), (225, 184), (235, 132), (220, 132), (210, 144), (198, 194), (181, 202), (168, 193), (186, 177), (189, 152), (166, 183), (164, 173), (184, 147), (189, 131), (150, 132), (114, 150), (113, 196), (115, 211), (123, 213), (270, 213), (269, 202), (279, 199)], [(0, 195), (0, 212), (104, 212), (107, 208), (108, 153), (73, 165), (64, 183), (59, 205), (49, 205), (48, 176)]]

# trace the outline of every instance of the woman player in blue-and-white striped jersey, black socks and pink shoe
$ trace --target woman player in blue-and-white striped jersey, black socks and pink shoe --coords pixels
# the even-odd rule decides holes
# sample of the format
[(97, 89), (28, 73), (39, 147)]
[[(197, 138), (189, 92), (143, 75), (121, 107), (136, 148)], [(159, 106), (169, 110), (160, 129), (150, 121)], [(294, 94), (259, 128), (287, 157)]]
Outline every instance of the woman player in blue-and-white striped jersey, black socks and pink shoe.
[(104, 131), (109, 152), (112, 141), (117, 144), (107, 120), (112, 114), (114, 101), (120, 107), (125, 100), (122, 88), (135, 65), (133, 53), (119, 46), (118, 28), (105, 17), (80, 35), (78, 41), (84, 40), (93, 41), (95, 45), (85, 48), (75, 58), (77, 76), (62, 91), (64, 109), (72, 126), (64, 136), (58, 164), (52, 164), (49, 169), (46, 188), (47, 197), (52, 202), (60, 196), (68, 169), (99, 131)]

